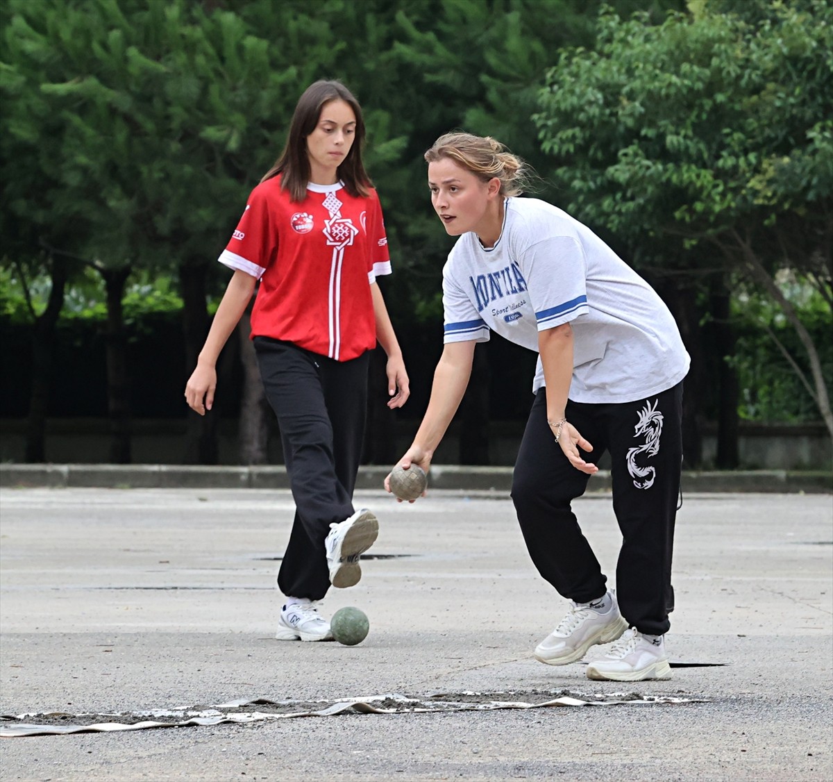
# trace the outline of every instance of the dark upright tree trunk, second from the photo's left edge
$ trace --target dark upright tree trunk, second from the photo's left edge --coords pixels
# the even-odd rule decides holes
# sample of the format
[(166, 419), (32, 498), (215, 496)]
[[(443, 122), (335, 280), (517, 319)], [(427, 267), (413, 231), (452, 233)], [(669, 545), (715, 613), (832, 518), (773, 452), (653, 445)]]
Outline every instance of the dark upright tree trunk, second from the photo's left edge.
[(107, 293), (107, 411), (110, 418), (110, 463), (130, 464), (130, 399), (127, 379), (127, 337), (122, 298), (130, 268), (98, 268)]

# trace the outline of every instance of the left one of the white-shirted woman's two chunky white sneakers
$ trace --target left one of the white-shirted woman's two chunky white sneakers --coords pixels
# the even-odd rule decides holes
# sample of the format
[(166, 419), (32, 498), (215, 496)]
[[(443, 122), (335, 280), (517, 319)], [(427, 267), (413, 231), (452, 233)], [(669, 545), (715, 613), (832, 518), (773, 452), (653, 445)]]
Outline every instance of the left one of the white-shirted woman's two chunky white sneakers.
[(606, 610), (593, 608), (595, 600), (590, 603), (571, 600), (570, 610), (561, 623), (537, 645), (535, 659), (548, 665), (575, 663), (591, 646), (609, 644), (619, 638), (627, 629), (627, 622), (619, 613), (616, 595), (608, 592), (602, 600), (608, 604)]

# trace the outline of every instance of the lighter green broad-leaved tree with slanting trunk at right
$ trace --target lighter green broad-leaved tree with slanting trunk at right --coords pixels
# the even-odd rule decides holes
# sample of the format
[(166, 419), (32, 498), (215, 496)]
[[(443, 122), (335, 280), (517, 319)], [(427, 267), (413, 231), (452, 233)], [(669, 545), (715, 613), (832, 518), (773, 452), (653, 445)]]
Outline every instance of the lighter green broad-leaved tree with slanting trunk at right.
[(691, 8), (660, 26), (604, 13), (596, 51), (562, 53), (548, 73), (542, 146), (589, 222), (666, 268), (742, 275), (778, 303), (833, 436), (817, 346), (776, 283), (791, 268), (833, 302), (833, 8)]

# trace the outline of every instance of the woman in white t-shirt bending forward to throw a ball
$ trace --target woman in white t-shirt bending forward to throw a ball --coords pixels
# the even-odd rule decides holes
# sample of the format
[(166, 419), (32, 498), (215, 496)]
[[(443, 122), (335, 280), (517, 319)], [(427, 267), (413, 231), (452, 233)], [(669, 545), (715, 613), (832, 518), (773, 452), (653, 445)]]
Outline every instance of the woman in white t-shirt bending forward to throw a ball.
[[(535, 399), (511, 495), (532, 561), (571, 605), (535, 657), (569, 664), (617, 641), (588, 666), (591, 679), (666, 679), (689, 366), (676, 323), (589, 228), (549, 203), (518, 198), (524, 165), (500, 143), (449, 133), (425, 159), (431, 203), (459, 238), (442, 272), (445, 348), (399, 464), (429, 468), (466, 390), (476, 343), (495, 331), (536, 351)], [(605, 451), (623, 534), (616, 594), (571, 510)]]

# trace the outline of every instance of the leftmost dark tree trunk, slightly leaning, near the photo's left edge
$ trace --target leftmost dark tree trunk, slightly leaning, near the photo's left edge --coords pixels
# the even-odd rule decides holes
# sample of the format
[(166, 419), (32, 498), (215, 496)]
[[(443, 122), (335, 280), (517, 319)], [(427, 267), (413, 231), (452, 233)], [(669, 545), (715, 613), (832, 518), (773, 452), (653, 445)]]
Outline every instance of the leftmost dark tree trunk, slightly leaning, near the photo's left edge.
[(63, 308), (67, 285), (67, 261), (52, 258), (52, 288), (46, 309), (35, 318), (32, 328), (32, 393), (26, 428), (26, 461), (46, 461), (46, 420), (52, 383), (52, 345), (55, 327)]

